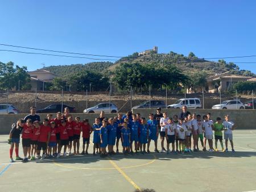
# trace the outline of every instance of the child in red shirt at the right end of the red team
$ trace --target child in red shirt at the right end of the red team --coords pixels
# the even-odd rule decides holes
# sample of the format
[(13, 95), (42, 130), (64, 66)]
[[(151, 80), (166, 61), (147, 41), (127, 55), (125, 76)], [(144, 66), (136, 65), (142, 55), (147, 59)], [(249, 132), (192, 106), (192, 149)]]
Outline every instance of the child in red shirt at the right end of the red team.
[[(84, 119), (82, 121), (82, 155), (88, 155), (88, 148), (90, 144), (90, 133), (92, 133), (92, 127), (90, 127), (89, 120)], [(85, 149), (86, 144), (86, 150)]]

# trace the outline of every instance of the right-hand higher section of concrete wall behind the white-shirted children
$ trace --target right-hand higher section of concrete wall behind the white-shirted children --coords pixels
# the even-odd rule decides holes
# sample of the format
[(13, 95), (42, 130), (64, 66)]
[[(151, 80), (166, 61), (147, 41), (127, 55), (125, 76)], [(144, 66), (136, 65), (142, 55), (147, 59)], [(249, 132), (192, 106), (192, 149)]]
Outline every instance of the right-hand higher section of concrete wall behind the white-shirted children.
[[(175, 114), (179, 115), (180, 109), (165, 109), (169, 117), (173, 117)], [(212, 119), (214, 122), (217, 117), (224, 119), (224, 115), (228, 114), (232, 122), (236, 123), (237, 129), (256, 129), (256, 110), (203, 110), (203, 109), (189, 109), (189, 112), (206, 115), (207, 112), (212, 114)], [(148, 118), (148, 114), (156, 113), (155, 109), (134, 109), (133, 113), (140, 113), (142, 117)]]

